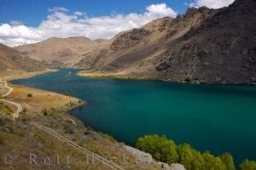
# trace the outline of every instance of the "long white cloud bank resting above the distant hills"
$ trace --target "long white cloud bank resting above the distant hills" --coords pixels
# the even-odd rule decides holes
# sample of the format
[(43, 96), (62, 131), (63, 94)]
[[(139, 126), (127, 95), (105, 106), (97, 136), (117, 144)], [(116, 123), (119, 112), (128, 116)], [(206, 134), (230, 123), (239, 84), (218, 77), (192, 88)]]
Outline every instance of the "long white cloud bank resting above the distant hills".
[(54, 7), (49, 11), (48, 17), (37, 27), (1, 24), (0, 43), (10, 46), (24, 45), (52, 36), (87, 36), (92, 40), (109, 39), (120, 31), (138, 28), (159, 17), (176, 17), (177, 15), (165, 3), (150, 5), (142, 14), (112, 14), (102, 17), (88, 17), (85, 12), (71, 14), (64, 7)]

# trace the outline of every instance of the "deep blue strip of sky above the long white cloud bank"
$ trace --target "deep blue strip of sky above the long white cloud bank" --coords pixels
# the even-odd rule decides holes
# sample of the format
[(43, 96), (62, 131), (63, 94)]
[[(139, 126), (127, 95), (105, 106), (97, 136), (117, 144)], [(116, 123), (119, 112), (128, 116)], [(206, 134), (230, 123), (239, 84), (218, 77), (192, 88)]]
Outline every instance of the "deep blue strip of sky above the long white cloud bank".
[(52, 7), (65, 7), (71, 12), (86, 12), (88, 16), (111, 13), (143, 13), (150, 4), (166, 3), (178, 13), (186, 11), (189, 0), (0, 0), (0, 22), (23, 21), (26, 26), (38, 26)]

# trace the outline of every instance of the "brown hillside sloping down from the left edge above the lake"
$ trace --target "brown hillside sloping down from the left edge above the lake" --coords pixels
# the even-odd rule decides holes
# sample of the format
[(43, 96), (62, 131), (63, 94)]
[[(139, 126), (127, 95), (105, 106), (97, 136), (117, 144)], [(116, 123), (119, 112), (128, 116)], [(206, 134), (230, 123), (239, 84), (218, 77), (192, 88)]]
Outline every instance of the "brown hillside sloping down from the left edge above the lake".
[(40, 71), (45, 68), (35, 59), (30, 59), (6, 45), (0, 44), (0, 72), (15, 71)]

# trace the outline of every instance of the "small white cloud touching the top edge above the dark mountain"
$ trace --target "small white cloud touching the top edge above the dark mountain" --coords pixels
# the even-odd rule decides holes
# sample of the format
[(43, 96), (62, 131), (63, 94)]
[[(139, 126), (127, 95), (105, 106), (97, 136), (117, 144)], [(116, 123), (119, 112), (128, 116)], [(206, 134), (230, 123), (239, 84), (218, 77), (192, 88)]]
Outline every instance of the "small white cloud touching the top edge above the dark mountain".
[(235, 0), (195, 0), (189, 3), (189, 7), (209, 7), (209, 8), (220, 8), (227, 7)]

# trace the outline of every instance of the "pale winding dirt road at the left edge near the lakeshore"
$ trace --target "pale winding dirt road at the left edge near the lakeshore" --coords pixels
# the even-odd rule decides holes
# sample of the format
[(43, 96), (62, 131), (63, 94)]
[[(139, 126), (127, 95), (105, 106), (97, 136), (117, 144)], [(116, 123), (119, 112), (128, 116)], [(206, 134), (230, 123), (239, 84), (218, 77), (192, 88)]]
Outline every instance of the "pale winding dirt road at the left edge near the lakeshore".
[[(13, 88), (8, 87), (7, 81), (3, 81), (2, 78), (0, 78), (0, 87), (7, 88), (7, 92), (2, 94), (1, 97), (7, 97), (13, 91)], [(19, 117), (20, 112), (22, 111), (22, 106), (17, 102), (7, 101), (5, 99), (0, 99), (0, 101), (17, 107), (17, 111), (15, 111), (13, 114), (13, 119), (16, 120)]]

